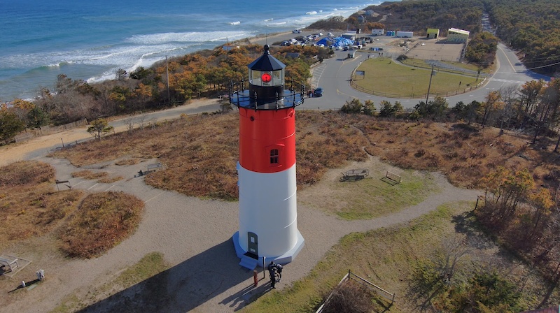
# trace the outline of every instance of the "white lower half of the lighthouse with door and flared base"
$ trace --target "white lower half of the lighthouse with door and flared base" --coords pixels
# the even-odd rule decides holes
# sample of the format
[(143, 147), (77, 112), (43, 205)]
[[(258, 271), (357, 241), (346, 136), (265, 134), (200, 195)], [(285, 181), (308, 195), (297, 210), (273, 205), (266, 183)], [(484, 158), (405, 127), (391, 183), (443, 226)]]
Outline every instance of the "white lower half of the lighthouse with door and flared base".
[[(297, 230), (295, 164), (276, 173), (257, 173), (237, 164), (239, 175), (239, 231), (233, 236), (241, 258), (289, 263), (304, 239)], [(246, 260), (251, 261), (251, 260)], [(253, 261), (248, 262), (253, 263)]]

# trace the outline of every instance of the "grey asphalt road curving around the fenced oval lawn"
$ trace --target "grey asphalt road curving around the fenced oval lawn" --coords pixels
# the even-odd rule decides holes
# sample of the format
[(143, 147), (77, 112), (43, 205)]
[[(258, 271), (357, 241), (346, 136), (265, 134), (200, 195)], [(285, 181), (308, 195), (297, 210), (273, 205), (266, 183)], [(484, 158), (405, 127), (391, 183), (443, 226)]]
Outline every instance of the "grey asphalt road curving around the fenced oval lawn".
[[(324, 95), (320, 98), (306, 98), (304, 103), (300, 105), (300, 108), (339, 109), (346, 101), (351, 99), (359, 99), (360, 101), (372, 100), (376, 104), (379, 104), (381, 100), (391, 101), (392, 103), (400, 101), (403, 107), (414, 108), (414, 105), (423, 101), (422, 99), (394, 99), (374, 96), (353, 89), (349, 82), (351, 74), (361, 61), (367, 59), (368, 53), (356, 52), (356, 57), (353, 59), (347, 59), (347, 54), (348, 52), (346, 51), (336, 51), (335, 57), (325, 59), (323, 64), (314, 68), (314, 77), (311, 85), (323, 87)], [(475, 100), (482, 102), (485, 101), (486, 95), (493, 90), (510, 85), (521, 87), (524, 82), (529, 80), (550, 80), (545, 75), (528, 71), (514, 52), (501, 43), (498, 44), (496, 59), (498, 61), (498, 69), (487, 79), (485, 85), (472, 92), (447, 97), (449, 105), (454, 106), (458, 101), (463, 101), (463, 103), (470, 103)], [(430, 97), (430, 99), (433, 99), (433, 97)]]

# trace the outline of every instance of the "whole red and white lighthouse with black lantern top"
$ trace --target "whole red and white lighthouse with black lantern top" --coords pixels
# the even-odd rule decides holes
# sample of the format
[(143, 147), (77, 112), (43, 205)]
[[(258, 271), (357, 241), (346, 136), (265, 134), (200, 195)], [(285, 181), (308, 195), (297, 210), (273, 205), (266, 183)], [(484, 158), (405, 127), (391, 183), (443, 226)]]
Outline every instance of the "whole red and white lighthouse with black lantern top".
[(239, 108), (239, 231), (233, 235), (239, 265), (289, 263), (304, 239), (297, 229), (295, 107), (298, 92), (284, 89), (286, 65), (269, 53), (248, 65), (248, 89), (230, 89)]

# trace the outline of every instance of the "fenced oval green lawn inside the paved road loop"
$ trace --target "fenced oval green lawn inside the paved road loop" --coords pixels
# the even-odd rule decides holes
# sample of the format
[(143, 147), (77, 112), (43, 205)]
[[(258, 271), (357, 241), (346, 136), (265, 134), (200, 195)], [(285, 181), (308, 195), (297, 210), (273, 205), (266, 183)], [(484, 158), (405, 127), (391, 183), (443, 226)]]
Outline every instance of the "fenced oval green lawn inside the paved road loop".
[[(405, 66), (387, 58), (367, 59), (357, 70), (364, 71), (365, 75), (354, 78), (356, 85), (381, 94), (426, 96), (430, 85), (429, 69)], [(432, 76), (430, 96), (455, 94), (458, 90), (475, 86), (476, 83), (476, 77), (437, 72)]]

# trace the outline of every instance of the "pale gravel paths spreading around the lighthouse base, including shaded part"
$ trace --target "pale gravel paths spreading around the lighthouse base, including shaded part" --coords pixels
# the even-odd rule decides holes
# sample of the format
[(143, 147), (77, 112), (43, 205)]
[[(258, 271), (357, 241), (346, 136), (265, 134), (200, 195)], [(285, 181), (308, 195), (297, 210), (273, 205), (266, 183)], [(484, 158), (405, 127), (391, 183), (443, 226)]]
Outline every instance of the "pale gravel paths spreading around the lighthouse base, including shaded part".
[[(72, 136), (71, 133), (68, 136)], [(31, 144), (33, 147), (24, 150), (38, 149), (41, 142), (47, 147), (52, 143), (39, 140)], [(21, 149), (22, 146), (18, 145), (15, 149)], [(8, 149), (0, 153), (10, 151)], [(68, 179), (70, 173), (78, 170), (64, 159), (38, 159), (51, 163), (60, 180)], [(200, 200), (149, 187), (144, 184), (143, 177), (134, 177), (134, 174), (152, 161), (155, 160), (132, 166), (115, 166), (113, 162), (88, 166), (92, 170), (103, 167), (103, 171), (110, 175), (125, 177), (112, 184), (72, 178), (71, 184), (75, 188), (134, 194), (146, 203), (144, 219), (134, 235), (97, 259), (67, 260), (57, 252), (34, 255), (33, 270), (43, 268), (47, 279), (33, 291), (20, 292), (6, 302), (1, 300), (7, 304), (0, 308), (0, 312), (45, 312), (72, 294), (90, 305), (85, 312), (233, 312), (244, 307), (251, 296), (264, 293), (267, 287), (264, 284), (266, 280), (262, 280), (262, 273), (259, 275), (260, 285), (253, 288), (252, 272), (238, 265), (239, 259), (233, 249), (231, 236), (238, 229), (238, 203)], [(370, 158), (360, 163), (360, 167), (376, 167), (376, 162), (379, 161)], [(330, 171), (325, 179), (337, 179), (340, 170)], [(477, 197), (477, 191), (458, 189), (451, 186), (443, 175), (432, 175), (440, 187), (439, 194), (428, 196), (419, 205), (377, 219), (342, 221), (300, 205), (298, 228), (305, 239), (305, 246), (295, 261), (286, 265), (279, 288), (289, 286), (307, 275), (328, 249), (347, 233), (400, 224), (434, 210), (437, 205), (451, 201), (473, 201)], [(317, 184), (312, 192), (328, 196), (329, 190), (325, 185)], [(311, 190), (301, 191), (302, 196), (306, 192)], [(16, 247), (13, 252), (25, 256), (28, 248)], [(95, 287), (109, 284), (123, 269), (137, 263), (150, 252), (162, 252), (172, 267), (113, 296), (110, 289), (90, 293)], [(21, 279), (16, 275), (10, 281), (15, 287)], [(6, 295), (5, 292), (3, 295)]]

